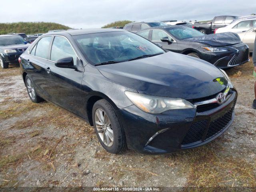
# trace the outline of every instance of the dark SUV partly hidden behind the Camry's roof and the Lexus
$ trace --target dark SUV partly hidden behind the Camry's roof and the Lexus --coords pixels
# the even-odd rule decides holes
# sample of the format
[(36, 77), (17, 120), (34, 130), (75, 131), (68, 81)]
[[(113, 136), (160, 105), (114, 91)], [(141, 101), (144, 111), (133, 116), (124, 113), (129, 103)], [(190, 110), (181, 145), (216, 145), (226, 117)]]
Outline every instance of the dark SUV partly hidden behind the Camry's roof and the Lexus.
[(137, 32), (139, 30), (147, 29), (150, 27), (156, 26), (168, 26), (168, 24), (161, 21), (153, 21), (153, 22), (134, 22), (128, 23), (124, 26), (124, 30), (128, 30), (131, 32)]

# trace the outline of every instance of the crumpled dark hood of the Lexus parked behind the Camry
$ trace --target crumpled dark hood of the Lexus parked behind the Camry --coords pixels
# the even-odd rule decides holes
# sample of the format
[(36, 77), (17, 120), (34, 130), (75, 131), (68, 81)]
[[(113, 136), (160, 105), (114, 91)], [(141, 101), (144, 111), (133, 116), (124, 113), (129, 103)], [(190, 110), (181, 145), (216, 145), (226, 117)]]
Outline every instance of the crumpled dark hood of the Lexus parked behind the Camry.
[(200, 42), (200, 43), (208, 44), (210, 46), (227, 46), (227, 45), (241, 43), (239, 36), (232, 32), (203, 35), (203, 36), (188, 38), (185, 41)]

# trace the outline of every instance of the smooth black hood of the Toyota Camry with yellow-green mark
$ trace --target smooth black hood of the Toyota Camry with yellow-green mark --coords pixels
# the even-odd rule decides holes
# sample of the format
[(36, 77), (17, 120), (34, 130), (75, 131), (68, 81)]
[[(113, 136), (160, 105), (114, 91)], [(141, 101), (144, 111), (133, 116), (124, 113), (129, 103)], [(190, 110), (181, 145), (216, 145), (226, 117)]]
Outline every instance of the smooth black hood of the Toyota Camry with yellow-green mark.
[(154, 96), (203, 98), (221, 92), (227, 85), (223, 74), (212, 64), (174, 52), (96, 68), (118, 84)]

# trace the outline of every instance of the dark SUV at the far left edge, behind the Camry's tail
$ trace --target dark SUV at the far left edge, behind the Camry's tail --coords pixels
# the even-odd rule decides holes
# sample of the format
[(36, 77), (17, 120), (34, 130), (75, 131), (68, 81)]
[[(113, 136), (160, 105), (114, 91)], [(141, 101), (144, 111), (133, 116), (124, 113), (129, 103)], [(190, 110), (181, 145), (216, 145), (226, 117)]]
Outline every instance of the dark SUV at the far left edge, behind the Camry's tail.
[(28, 48), (19, 35), (0, 35), (0, 65), (6, 69), (9, 63), (18, 63), (19, 56)]

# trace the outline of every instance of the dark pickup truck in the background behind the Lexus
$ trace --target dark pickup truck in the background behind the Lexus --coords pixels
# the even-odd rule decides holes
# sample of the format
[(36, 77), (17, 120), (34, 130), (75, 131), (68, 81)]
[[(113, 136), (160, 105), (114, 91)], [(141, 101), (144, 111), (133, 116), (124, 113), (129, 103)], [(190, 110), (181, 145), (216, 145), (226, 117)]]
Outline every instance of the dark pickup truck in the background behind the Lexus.
[(212, 34), (216, 29), (229, 25), (236, 18), (238, 16), (217, 16), (208, 23), (195, 23), (193, 28), (204, 34)]

